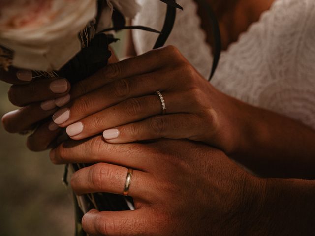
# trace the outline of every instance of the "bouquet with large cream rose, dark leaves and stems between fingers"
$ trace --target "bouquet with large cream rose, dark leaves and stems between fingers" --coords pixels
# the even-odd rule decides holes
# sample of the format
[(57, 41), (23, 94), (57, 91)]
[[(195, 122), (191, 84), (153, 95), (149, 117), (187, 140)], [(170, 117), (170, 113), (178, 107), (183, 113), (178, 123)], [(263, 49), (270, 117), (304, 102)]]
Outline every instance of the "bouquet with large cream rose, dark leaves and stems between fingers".
[[(64, 77), (76, 83), (106, 66), (115, 42), (113, 32), (122, 29), (148, 30), (160, 34), (155, 48), (163, 46), (170, 34), (176, 8), (167, 4), (163, 29), (126, 26), (140, 10), (136, 0), (1, 0), (0, 69), (10, 66), (29, 69), (38, 77)], [(72, 171), (86, 164), (71, 164)], [(68, 166), (63, 177), (66, 183)], [(81, 219), (92, 208), (127, 210), (132, 199), (109, 193), (74, 196), (76, 235), (84, 236)]]

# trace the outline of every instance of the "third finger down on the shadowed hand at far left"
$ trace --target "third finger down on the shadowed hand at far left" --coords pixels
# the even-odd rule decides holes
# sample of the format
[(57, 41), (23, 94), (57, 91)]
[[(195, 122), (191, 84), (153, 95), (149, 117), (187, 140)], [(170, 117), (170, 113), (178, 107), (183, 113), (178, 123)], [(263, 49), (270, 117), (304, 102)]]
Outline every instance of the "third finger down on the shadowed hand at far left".
[(51, 110), (44, 110), (41, 103), (34, 103), (5, 114), (2, 117), (4, 129), (9, 133), (20, 133), (30, 130), (30, 127), (34, 124), (56, 112), (57, 108), (55, 108), (54, 101), (49, 103), (45, 102), (44, 108), (52, 108)]

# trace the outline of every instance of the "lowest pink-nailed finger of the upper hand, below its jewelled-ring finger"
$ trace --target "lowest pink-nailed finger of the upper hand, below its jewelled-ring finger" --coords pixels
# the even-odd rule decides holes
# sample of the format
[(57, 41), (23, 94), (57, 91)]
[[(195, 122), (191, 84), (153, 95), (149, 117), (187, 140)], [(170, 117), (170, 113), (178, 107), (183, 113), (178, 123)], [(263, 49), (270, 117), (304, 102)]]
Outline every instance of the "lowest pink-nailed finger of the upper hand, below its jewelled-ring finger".
[[(122, 144), (158, 138), (198, 141), (204, 133), (202, 120), (193, 114), (154, 116), (103, 132), (108, 143)], [(209, 130), (209, 132), (211, 132)]]

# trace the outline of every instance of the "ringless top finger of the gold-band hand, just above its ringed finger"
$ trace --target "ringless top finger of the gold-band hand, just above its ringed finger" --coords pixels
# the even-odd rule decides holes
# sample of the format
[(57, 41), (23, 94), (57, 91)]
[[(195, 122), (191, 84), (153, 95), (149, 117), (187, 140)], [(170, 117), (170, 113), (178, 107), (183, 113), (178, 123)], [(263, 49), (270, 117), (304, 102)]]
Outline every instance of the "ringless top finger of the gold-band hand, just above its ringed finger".
[(51, 150), (50, 159), (54, 164), (107, 162), (146, 170), (150, 165), (141, 144), (112, 145), (104, 142), (102, 136), (89, 140), (68, 140)]

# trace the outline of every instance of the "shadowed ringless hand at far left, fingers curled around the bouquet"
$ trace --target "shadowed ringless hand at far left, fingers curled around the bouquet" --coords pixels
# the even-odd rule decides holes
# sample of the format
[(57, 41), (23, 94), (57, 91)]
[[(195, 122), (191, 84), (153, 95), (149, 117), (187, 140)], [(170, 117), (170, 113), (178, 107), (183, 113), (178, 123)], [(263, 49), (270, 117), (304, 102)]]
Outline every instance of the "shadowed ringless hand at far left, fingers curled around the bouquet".
[[(109, 63), (118, 59), (114, 52)], [(8, 92), (13, 105), (21, 107), (2, 117), (4, 128), (10, 133), (27, 134), (27, 146), (33, 151), (41, 151), (55, 145), (57, 137), (64, 140), (63, 130), (53, 121), (51, 116), (70, 101), (70, 83), (63, 78), (38, 78), (37, 72), (10, 67), (9, 71), (0, 70), (0, 80), (13, 84)], [(76, 88), (80, 88), (77, 84)], [(93, 87), (94, 86), (94, 87)], [(90, 88), (96, 89), (97, 83), (90, 82)], [(78, 91), (80, 89), (74, 89)], [(81, 90), (80, 90), (81, 91)], [(72, 98), (84, 93), (72, 93)]]

